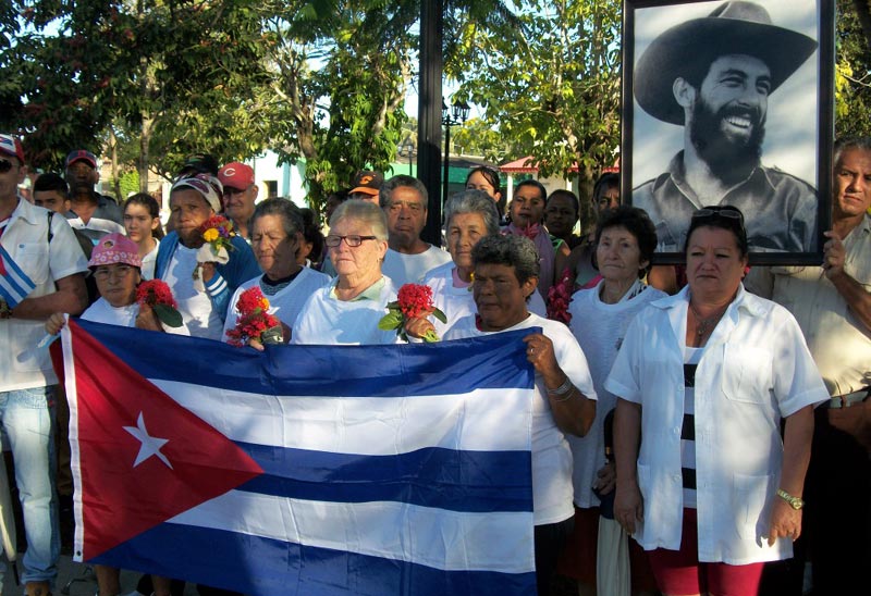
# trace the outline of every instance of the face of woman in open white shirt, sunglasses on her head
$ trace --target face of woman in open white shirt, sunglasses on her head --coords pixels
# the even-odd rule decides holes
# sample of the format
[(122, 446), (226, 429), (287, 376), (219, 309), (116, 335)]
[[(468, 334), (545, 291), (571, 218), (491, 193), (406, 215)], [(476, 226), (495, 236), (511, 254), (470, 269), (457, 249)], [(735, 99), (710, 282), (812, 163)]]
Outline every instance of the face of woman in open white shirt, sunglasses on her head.
[(728, 299), (744, 277), (747, 257), (741, 257), (735, 234), (721, 227), (701, 226), (687, 241), (687, 280), (696, 296)]

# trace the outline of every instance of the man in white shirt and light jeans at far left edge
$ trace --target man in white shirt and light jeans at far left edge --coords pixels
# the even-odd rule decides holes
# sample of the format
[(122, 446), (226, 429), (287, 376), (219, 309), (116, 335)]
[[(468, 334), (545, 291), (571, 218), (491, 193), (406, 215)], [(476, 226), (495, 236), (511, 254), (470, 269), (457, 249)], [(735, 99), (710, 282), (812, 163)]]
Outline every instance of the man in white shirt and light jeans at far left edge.
[[(15, 462), (27, 551), (22, 581), (27, 596), (46, 596), (58, 576), (60, 532), (54, 492), (54, 401), (58, 377), (48, 350), (37, 348), (42, 325), (54, 312), (78, 314), (87, 303), (87, 263), (63, 215), (22, 200), (24, 151), (0, 135), (0, 281), (21, 287), (0, 301), (0, 427)], [(21, 295), (25, 297), (17, 300)]]

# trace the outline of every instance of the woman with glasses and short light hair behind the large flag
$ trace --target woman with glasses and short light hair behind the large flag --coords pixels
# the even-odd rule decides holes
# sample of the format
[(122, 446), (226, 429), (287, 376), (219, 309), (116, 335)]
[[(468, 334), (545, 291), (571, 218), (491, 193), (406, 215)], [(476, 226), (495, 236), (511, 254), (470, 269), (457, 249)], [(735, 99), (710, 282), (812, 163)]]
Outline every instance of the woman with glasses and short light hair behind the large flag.
[(333, 282), (306, 301), (293, 325), (292, 344), (394, 344), (396, 334), (378, 328), (396, 288), (381, 273), (388, 250), (384, 212), (368, 201), (345, 201), (330, 220), (326, 245)]

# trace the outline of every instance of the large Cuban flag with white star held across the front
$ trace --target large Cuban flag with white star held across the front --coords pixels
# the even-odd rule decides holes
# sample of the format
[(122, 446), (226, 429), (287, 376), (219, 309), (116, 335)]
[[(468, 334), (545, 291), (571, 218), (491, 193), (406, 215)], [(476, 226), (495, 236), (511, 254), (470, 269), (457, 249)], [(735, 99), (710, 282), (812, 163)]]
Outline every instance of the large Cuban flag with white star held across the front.
[(533, 594), (527, 333), (255, 352), (71, 321), (74, 556), (254, 596)]

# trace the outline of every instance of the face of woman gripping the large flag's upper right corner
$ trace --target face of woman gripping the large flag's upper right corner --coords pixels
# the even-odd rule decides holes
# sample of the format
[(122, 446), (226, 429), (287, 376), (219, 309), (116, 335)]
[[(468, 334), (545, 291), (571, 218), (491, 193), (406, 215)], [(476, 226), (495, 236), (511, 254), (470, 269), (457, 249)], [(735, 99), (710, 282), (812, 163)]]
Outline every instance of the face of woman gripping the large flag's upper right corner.
[(526, 298), (537, 285), (535, 277), (522, 284), (513, 266), (478, 263), (471, 287), (483, 331), (506, 330), (526, 319)]

